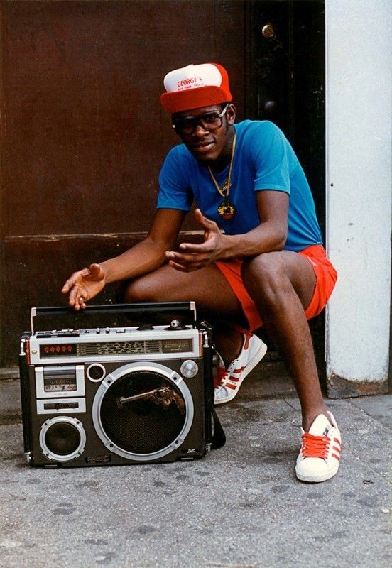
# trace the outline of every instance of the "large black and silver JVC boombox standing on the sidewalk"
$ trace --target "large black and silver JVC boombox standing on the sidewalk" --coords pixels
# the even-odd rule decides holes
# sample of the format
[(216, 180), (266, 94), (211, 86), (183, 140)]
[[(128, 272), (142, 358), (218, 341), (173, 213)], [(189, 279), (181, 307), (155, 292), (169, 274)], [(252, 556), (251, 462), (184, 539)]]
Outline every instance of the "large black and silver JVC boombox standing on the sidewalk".
[[(224, 443), (213, 408), (211, 328), (193, 302), (88, 306), (126, 314), (125, 327), (35, 331), (21, 337), (24, 452), (45, 467), (197, 459)], [(178, 317), (170, 320), (175, 313)], [(168, 322), (153, 324), (156, 315)]]

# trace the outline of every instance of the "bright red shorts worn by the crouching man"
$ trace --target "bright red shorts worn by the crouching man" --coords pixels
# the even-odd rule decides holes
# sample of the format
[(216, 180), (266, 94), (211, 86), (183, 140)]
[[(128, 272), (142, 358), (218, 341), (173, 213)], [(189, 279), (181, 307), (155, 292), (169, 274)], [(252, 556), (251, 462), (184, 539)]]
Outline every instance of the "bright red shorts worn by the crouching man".
[[(315, 317), (320, 314), (327, 304), (337, 280), (337, 271), (335, 271), (334, 267), (328, 260), (324, 247), (320, 244), (308, 246), (307, 249), (300, 251), (298, 254), (307, 258), (307, 261), (309, 261), (316, 276), (315, 291), (313, 293), (312, 300), (310, 300), (310, 304), (305, 310), (305, 316), (307, 317), (307, 320), (310, 320), (311, 317)], [(238, 298), (242, 310), (244, 310), (244, 314), (249, 322), (249, 329), (254, 331), (263, 325), (263, 320), (261, 320), (257, 307), (242, 282), (242, 263), (243, 261), (217, 261), (215, 264), (222, 272), (229, 285), (232, 287), (234, 294)]]

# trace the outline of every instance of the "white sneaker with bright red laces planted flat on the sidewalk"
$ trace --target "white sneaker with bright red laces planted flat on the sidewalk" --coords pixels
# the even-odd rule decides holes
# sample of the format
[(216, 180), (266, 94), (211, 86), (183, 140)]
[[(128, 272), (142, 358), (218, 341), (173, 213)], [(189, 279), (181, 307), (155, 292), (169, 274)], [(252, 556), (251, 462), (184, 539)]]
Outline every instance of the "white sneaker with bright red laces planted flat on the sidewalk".
[(318, 483), (337, 473), (340, 463), (341, 437), (332, 413), (330, 421), (319, 414), (309, 432), (301, 428), (302, 445), (295, 464), (295, 474), (301, 481)]

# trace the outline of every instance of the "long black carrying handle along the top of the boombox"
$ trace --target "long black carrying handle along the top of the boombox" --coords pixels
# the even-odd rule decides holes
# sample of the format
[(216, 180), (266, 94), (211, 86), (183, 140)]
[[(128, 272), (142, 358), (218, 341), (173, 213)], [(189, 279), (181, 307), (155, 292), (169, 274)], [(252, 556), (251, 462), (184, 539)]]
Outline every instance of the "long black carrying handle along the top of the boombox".
[[(131, 315), (146, 315), (146, 314), (165, 314), (176, 312), (180, 314), (190, 315), (192, 312), (193, 322), (196, 321), (196, 306), (195, 302), (141, 302), (139, 304), (104, 304), (104, 305), (89, 305), (80, 312), (86, 314), (99, 314), (99, 313), (126, 313)], [(40, 315), (65, 315), (65, 314), (79, 314), (72, 307), (66, 306), (41, 306), (32, 307), (30, 314), (30, 327), (31, 334), (34, 334), (34, 318)]]

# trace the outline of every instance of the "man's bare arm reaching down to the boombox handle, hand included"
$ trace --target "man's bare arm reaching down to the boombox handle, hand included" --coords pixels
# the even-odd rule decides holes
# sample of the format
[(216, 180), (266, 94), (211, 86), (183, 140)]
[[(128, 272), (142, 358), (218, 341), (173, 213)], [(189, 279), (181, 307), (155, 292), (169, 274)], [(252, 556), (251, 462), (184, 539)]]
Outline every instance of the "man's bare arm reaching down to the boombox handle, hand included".
[(69, 294), (69, 305), (80, 310), (105, 285), (136, 278), (162, 266), (165, 251), (173, 248), (184, 217), (185, 212), (178, 209), (158, 209), (146, 239), (119, 256), (73, 273), (61, 290)]

